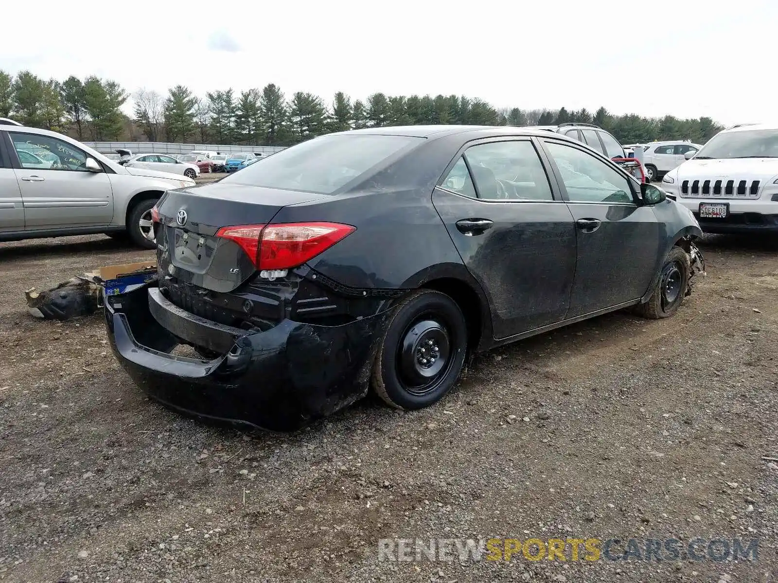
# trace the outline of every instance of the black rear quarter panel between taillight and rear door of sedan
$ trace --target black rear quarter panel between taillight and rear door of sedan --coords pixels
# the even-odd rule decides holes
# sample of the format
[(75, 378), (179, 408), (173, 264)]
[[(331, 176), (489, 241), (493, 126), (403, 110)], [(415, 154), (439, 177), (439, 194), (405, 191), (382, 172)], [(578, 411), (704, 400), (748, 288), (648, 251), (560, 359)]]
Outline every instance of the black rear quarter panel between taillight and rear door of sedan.
[(349, 192), (282, 208), (273, 222), (354, 225), (355, 232), (310, 267), (353, 288), (416, 287), (442, 265), (462, 265), (432, 204), (433, 189), (462, 141), (456, 134), (420, 141)]

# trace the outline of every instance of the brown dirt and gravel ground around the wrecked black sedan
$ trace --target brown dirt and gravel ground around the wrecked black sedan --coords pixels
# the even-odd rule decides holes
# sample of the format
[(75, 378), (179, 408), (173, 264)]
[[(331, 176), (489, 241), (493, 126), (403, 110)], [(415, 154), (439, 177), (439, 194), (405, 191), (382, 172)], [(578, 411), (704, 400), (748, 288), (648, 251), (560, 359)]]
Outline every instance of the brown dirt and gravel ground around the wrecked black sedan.
[[(778, 458), (778, 241), (701, 248), (707, 277), (674, 318), (603, 316), (483, 355), (428, 410), (367, 399), (267, 435), (149, 402), (100, 315), (26, 313), (26, 288), (151, 253), (2, 243), (0, 580), (778, 581), (778, 465), (762, 459)], [(758, 537), (758, 558), (377, 553), (396, 537), (698, 536)]]

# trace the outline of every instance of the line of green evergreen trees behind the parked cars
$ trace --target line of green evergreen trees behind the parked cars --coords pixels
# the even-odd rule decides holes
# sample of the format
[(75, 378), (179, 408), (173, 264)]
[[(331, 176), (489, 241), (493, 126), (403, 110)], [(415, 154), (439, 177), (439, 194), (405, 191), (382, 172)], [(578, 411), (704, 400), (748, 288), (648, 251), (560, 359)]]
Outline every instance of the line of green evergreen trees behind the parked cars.
[[(132, 116), (122, 111), (131, 98)], [(586, 109), (497, 109), (466, 96), (387, 96), (351, 99), (335, 93), (330, 103), (314, 93), (285, 96), (268, 83), (237, 93), (217, 89), (196, 96), (185, 86), (166, 95), (140, 88), (128, 93), (117, 82), (90, 76), (41, 79), (0, 70), (0, 117), (93, 141), (172, 141), (240, 145), (294, 145), (332, 131), (418, 124), (555, 125), (582, 122), (603, 127), (622, 144), (663, 139), (704, 143), (722, 127), (710, 117), (678, 119), (613, 115)]]

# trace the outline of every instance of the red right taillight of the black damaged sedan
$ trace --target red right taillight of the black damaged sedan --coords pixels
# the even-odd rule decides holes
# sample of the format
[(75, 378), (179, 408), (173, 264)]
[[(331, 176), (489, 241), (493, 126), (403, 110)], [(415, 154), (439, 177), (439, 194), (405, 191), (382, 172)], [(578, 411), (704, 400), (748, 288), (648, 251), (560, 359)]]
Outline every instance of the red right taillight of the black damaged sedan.
[(354, 231), (334, 222), (296, 222), (222, 227), (216, 236), (240, 245), (258, 270), (279, 271), (310, 261)]

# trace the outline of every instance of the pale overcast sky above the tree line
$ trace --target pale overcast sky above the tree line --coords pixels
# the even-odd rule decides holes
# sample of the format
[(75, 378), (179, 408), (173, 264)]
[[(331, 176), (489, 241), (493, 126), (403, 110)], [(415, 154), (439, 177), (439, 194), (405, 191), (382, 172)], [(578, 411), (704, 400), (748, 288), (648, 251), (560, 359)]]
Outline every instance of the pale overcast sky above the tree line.
[(778, 118), (774, 0), (38, 0), (3, 14), (27, 24), (2, 27), (0, 68), (99, 75), (130, 93), (274, 82), (328, 102), (338, 90), (456, 93), (498, 107)]

